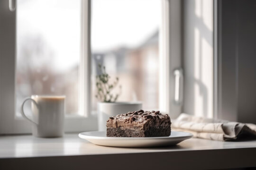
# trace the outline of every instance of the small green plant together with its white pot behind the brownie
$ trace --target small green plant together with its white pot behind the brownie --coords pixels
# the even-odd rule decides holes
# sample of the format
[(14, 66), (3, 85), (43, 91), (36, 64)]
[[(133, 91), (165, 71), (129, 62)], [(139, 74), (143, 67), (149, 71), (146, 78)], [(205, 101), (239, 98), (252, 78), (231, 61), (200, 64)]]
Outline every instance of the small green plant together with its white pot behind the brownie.
[[(107, 120), (115, 115), (121, 113), (127, 113), (128, 111), (135, 111), (142, 109), (141, 102), (116, 102), (121, 93), (121, 85), (119, 84), (119, 77), (111, 83), (110, 76), (106, 73), (105, 66), (98, 67), (101, 70), (101, 73), (96, 76), (96, 89), (97, 94), (96, 98), (99, 100), (97, 105), (98, 112), (98, 130), (106, 130)], [(119, 87), (119, 93), (113, 93), (113, 89)]]

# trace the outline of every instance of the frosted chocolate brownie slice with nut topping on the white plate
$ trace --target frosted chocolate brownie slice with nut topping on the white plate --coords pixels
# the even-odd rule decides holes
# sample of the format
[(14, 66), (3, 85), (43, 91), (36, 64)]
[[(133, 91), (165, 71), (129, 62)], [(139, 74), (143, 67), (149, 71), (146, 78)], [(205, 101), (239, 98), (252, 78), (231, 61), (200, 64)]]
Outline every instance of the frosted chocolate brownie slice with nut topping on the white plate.
[(171, 120), (160, 111), (138, 110), (110, 117), (107, 136), (110, 137), (159, 137), (171, 135)]

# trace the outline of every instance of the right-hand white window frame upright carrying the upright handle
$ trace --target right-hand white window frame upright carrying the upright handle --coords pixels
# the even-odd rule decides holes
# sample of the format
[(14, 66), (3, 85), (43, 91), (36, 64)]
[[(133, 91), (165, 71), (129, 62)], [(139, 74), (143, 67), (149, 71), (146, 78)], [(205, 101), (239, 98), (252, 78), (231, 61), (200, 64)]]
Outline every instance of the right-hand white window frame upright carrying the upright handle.
[[(174, 70), (182, 70), (182, 2), (162, 0), (162, 23), (159, 29), (159, 110), (171, 119), (182, 112), (183, 101), (175, 102)], [(183, 98), (183, 87), (180, 96)]]

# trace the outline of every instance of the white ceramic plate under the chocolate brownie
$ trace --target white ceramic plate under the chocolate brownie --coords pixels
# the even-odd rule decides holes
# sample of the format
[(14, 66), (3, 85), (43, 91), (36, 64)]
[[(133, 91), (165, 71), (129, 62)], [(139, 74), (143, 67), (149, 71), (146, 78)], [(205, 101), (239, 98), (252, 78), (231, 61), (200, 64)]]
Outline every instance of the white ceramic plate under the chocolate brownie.
[(166, 137), (106, 137), (106, 132), (93, 131), (82, 132), (78, 135), (93, 144), (116, 147), (157, 147), (169, 146), (191, 138), (193, 135), (187, 132), (171, 132)]

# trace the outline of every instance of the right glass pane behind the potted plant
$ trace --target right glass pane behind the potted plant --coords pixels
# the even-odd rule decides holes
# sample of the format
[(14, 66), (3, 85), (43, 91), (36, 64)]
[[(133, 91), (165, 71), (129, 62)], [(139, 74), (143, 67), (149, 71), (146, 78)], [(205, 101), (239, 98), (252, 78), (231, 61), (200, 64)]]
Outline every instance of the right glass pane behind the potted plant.
[(119, 77), (117, 101), (142, 101), (144, 109), (157, 109), (161, 0), (92, 0), (91, 12), (92, 109), (99, 101), (98, 64), (112, 82)]

